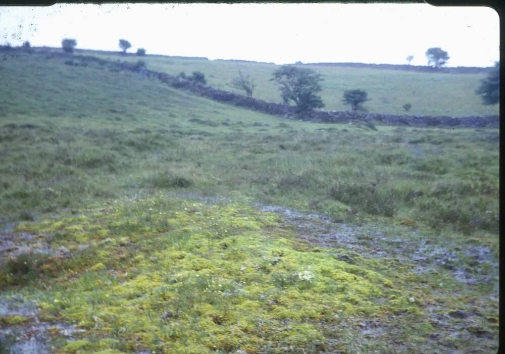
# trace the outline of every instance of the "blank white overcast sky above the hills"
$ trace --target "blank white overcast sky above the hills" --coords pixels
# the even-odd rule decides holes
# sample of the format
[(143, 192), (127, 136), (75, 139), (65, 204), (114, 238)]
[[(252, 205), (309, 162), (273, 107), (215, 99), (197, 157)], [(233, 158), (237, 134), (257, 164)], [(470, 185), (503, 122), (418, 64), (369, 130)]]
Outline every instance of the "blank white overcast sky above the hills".
[(441, 47), (448, 66), (499, 60), (499, 19), (487, 7), (427, 4), (59, 4), (0, 7), (0, 43), (119, 50), (120, 38), (147, 54), (426, 65)]

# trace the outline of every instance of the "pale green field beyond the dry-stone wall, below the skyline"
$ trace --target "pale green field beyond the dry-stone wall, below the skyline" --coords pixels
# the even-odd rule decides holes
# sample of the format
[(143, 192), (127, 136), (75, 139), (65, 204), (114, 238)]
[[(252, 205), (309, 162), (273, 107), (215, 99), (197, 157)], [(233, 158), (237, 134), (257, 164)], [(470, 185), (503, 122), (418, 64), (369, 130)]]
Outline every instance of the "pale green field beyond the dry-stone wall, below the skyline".
[[(84, 52), (85, 53), (85, 52)], [(109, 60), (145, 61), (151, 70), (177, 75), (181, 71), (190, 74), (201, 71), (208, 84), (234, 92), (229, 83), (237, 76), (238, 69), (256, 80), (254, 96), (269, 102), (280, 102), (277, 85), (269, 81), (278, 67), (273, 64), (235, 63), (204, 59), (177, 59), (172, 57), (122, 57), (120, 55), (93, 54)], [(484, 106), (475, 94), (480, 80), (486, 74), (416, 73), (371, 68), (339, 68), (304, 66), (323, 75), (321, 96), (327, 110), (348, 110), (342, 103), (345, 90), (360, 88), (368, 92), (370, 101), (365, 107), (372, 113), (405, 113), (402, 106), (410, 103), (414, 115), (497, 115), (498, 105)]]

